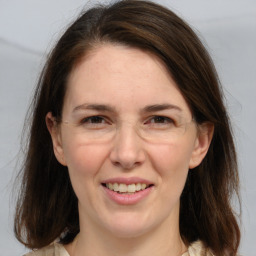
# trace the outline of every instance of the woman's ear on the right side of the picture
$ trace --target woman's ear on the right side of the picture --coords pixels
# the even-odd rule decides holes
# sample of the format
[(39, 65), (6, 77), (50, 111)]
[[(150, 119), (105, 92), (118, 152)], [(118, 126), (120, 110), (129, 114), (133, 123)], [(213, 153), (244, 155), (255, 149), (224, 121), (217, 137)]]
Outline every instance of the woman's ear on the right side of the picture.
[(189, 162), (190, 169), (197, 167), (203, 161), (210, 147), (213, 132), (214, 125), (212, 123), (203, 123), (199, 125), (194, 150)]

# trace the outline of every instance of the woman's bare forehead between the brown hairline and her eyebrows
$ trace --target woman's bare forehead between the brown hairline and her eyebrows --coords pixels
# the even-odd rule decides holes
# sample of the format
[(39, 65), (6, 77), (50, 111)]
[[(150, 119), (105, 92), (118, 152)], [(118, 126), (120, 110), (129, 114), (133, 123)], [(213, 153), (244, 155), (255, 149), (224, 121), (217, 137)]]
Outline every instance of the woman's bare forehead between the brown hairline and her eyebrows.
[(176, 104), (188, 110), (176, 83), (156, 56), (111, 44), (91, 50), (70, 74), (64, 107), (84, 103), (117, 108)]

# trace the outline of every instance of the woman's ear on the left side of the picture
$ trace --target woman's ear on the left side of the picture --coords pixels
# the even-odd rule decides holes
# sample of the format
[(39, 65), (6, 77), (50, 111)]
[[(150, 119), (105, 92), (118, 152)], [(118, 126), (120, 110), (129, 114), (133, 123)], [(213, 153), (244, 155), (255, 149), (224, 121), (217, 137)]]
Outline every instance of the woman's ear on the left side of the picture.
[(57, 158), (60, 164), (66, 166), (67, 164), (63, 153), (60, 127), (51, 112), (47, 113), (45, 117), (45, 122), (52, 138), (53, 151), (55, 157)]

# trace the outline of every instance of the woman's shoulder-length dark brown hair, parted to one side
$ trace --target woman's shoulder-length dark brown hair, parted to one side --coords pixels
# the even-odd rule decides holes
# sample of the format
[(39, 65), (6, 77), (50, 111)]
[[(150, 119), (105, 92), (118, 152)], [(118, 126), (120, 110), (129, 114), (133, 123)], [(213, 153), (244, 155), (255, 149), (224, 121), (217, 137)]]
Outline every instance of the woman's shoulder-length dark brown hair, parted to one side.
[(176, 81), (198, 124), (214, 124), (203, 162), (189, 171), (181, 196), (180, 232), (216, 256), (235, 255), (240, 231), (231, 207), (238, 195), (236, 152), (214, 65), (191, 28), (172, 11), (149, 1), (123, 0), (84, 12), (51, 52), (30, 107), (31, 127), (15, 216), (17, 239), (41, 248), (56, 238), (71, 242), (79, 232), (77, 197), (67, 167), (54, 156), (45, 116), (61, 119), (68, 76), (95, 44), (124, 44), (160, 58)]

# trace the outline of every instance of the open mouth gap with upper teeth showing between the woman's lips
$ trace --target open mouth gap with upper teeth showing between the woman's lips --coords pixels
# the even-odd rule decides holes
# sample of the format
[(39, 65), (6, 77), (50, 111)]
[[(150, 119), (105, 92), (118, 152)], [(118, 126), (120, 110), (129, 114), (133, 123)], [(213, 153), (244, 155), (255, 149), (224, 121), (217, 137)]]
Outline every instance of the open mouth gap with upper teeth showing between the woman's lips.
[(153, 184), (146, 183), (132, 183), (132, 184), (124, 184), (124, 183), (102, 183), (102, 186), (107, 189), (114, 191), (118, 194), (135, 194), (139, 191), (146, 190), (153, 186)]

